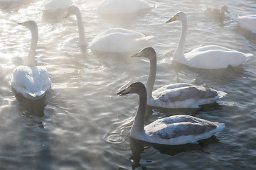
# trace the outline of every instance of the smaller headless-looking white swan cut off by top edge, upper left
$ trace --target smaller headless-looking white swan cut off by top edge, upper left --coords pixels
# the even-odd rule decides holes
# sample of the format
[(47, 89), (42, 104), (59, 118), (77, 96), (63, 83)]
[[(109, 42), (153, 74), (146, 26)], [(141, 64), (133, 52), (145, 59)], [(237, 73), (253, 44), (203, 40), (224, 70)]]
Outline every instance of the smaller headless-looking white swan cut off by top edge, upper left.
[(73, 3), (72, 0), (46, 0), (42, 4), (42, 11), (53, 13), (59, 8), (64, 10)]

